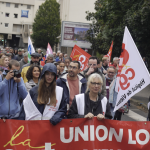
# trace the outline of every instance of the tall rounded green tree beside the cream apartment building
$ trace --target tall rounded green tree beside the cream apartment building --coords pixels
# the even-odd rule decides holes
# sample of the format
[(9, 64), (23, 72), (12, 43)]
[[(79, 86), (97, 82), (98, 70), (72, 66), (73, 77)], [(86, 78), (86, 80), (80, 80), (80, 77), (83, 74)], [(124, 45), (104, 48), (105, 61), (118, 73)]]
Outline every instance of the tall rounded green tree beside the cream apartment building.
[(46, 0), (40, 6), (34, 19), (31, 36), (35, 46), (46, 49), (48, 42), (52, 47), (59, 42), (57, 39), (61, 31), (59, 7), (56, 0)]

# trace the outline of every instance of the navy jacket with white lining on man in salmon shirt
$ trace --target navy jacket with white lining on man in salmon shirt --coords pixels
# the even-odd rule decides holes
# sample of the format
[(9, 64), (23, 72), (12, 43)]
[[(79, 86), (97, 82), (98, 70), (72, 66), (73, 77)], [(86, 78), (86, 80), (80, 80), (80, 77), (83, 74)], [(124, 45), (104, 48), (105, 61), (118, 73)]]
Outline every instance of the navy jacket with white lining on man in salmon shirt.
[[(58, 78), (56, 83), (58, 86), (60, 86), (64, 89), (64, 92), (65, 92), (66, 96), (68, 97), (67, 103), (69, 104), (69, 97), (70, 97), (69, 91), (70, 90), (69, 90), (69, 84), (67, 81), (67, 74), (68, 73), (65, 73), (60, 78)], [(87, 84), (86, 84), (87, 80), (81, 74), (78, 74), (78, 78), (79, 78), (79, 94), (85, 93), (86, 87), (87, 87)]]

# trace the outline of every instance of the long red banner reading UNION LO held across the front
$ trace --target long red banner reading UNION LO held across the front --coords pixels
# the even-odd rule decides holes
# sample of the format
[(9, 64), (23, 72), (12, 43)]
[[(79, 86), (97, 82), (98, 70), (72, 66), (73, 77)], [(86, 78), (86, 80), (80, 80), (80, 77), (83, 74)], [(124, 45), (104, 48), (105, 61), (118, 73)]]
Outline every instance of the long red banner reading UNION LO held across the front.
[(149, 134), (150, 122), (0, 120), (0, 150), (149, 150)]

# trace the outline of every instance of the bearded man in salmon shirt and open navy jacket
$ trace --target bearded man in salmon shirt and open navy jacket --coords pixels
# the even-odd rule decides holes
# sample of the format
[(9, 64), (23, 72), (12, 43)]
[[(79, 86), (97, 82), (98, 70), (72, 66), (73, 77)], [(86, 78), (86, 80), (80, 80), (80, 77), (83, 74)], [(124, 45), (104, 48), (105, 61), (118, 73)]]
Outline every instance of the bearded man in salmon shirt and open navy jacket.
[[(68, 99), (69, 107), (72, 104), (75, 95), (85, 93), (86, 79), (79, 74), (80, 63), (78, 61), (72, 61), (68, 67), (68, 73), (62, 75), (57, 79), (56, 83), (64, 89), (64, 92)], [(68, 107), (68, 108), (69, 108)]]

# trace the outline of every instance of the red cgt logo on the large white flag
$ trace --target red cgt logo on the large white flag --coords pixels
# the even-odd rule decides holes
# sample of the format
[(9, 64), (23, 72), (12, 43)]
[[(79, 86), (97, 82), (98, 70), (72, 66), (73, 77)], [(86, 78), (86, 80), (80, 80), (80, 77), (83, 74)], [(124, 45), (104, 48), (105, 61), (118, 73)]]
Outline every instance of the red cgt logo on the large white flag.
[[(133, 80), (135, 77), (135, 71), (132, 68), (129, 68), (130, 66), (126, 66), (128, 60), (129, 60), (129, 53), (125, 49), (125, 44), (122, 44), (122, 53), (120, 56), (120, 63), (119, 63), (119, 70), (118, 70), (118, 77), (120, 77), (119, 85), (122, 90), (126, 90), (130, 87), (130, 80)], [(121, 74), (123, 68), (125, 67), (125, 73)], [(130, 75), (130, 76), (129, 76)], [(119, 91), (119, 89), (118, 89)]]

